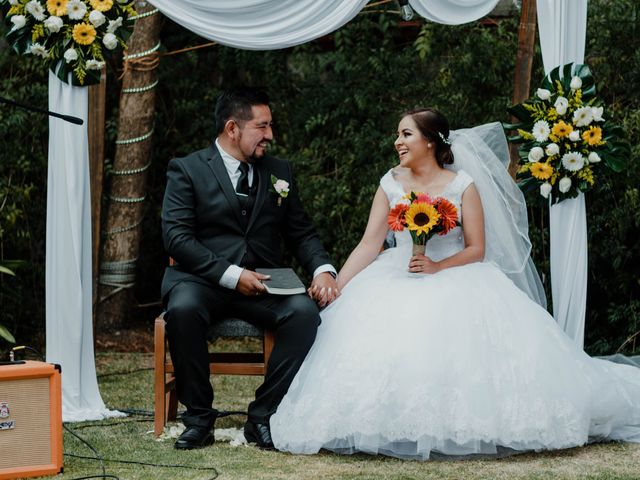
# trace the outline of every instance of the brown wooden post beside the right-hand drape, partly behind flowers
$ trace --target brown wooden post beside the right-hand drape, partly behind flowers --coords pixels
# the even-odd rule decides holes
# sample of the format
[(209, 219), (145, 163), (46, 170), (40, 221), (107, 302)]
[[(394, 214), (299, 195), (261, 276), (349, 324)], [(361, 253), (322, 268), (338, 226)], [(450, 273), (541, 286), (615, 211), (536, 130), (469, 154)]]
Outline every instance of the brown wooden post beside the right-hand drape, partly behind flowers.
[[(522, 0), (520, 28), (518, 30), (518, 56), (516, 58), (516, 78), (513, 87), (513, 104), (529, 97), (531, 87), (531, 67), (536, 45), (536, 0)], [(513, 122), (517, 119), (512, 118)], [(509, 173), (516, 176), (518, 170), (518, 147), (510, 145), (511, 162)]]

